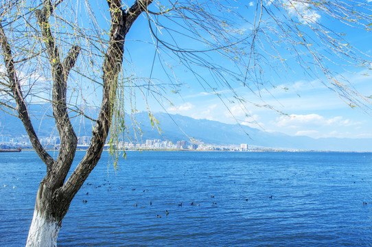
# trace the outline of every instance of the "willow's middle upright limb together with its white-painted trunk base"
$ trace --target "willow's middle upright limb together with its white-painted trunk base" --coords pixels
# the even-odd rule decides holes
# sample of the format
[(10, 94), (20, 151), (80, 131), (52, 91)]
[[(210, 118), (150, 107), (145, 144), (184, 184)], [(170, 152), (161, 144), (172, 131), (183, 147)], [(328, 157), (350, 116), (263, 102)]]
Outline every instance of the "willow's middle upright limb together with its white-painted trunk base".
[(56, 246), (62, 219), (72, 200), (65, 198), (60, 187), (65, 182), (78, 145), (78, 138), (67, 113), (67, 79), (69, 71), (75, 66), (80, 47), (73, 45), (65, 60), (60, 62), (58, 47), (49, 27), (48, 19), (52, 12), (50, 6), (50, 1), (46, 1), (43, 9), (36, 11), (36, 18), (51, 64), (53, 114), (61, 141), (58, 157), (39, 185), (27, 246)]

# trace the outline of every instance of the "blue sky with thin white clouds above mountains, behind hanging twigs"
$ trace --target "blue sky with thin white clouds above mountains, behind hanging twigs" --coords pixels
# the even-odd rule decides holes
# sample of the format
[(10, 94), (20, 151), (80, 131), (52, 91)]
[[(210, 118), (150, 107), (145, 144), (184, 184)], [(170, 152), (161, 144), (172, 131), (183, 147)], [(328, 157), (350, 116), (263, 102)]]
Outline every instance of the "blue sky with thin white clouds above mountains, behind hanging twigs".
[[(289, 3), (288, 0), (281, 1), (283, 3)], [(133, 1), (123, 2), (130, 5)], [(164, 3), (164, 5), (169, 4), (169, 1), (160, 2)], [(200, 0), (200, 3), (201, 2)], [(249, 37), (253, 32), (254, 12), (257, 1), (242, 0), (240, 3), (237, 1), (229, 2), (233, 3), (230, 10), (241, 14), (245, 18), (244, 21), (236, 21), (234, 18), (230, 20), (236, 21), (235, 27), (237, 31), (236, 34), (231, 35), (234, 38), (239, 38), (240, 33), (242, 33), (242, 37), (245, 37), (244, 35)], [(277, 3), (279, 0), (264, 1), (266, 8), (271, 8), (272, 5), (275, 4), (274, 2)], [(370, 2), (372, 1), (362, 0), (362, 2), (371, 5)], [(84, 9), (86, 3), (87, 2), (80, 1), (80, 7), (78, 8)], [(206, 3), (208, 3), (208, 1), (206, 1)], [(225, 3), (225, 1), (216, 1), (216, 3)], [(101, 35), (103, 38), (107, 38), (104, 31), (108, 32), (109, 30), (107, 21), (107, 15), (109, 13), (108, 7), (105, 2), (100, 1), (91, 1), (90, 4), (97, 15), (98, 25), (103, 29)], [(165, 9), (166, 8), (167, 6), (165, 6)], [(156, 11), (156, 3), (152, 3), (151, 10)], [(317, 21), (321, 23), (321, 25), (336, 30), (336, 32), (342, 32), (345, 34), (345, 44), (350, 43), (354, 48), (359, 49), (360, 54), (362, 54), (365, 59), (371, 60), (372, 32), (356, 29), (349, 25), (343, 25), (339, 21), (334, 21), (334, 19), (327, 16), (327, 14), (313, 10), (312, 8), (303, 8), (303, 6), (297, 5), (297, 12), (294, 12), (293, 8), (287, 8), (286, 10), (288, 10), (289, 16), (297, 21), (297, 23), (303, 23), (305, 19), (307, 19), (307, 21), (310, 20), (310, 24), (312, 21)], [(63, 10), (61, 11), (63, 12)], [(212, 9), (212, 12), (220, 14), (218, 7)], [(222, 14), (227, 14), (226, 16), (229, 16), (229, 13), (230, 12), (226, 10), (226, 12)], [(71, 15), (71, 12), (68, 12), (68, 14)], [(102, 16), (102, 14), (106, 14), (106, 17)], [(299, 14), (301, 14), (301, 16), (299, 16)], [(369, 12), (369, 14), (372, 13)], [(76, 12), (76, 16), (72, 16), (71, 18), (86, 23), (86, 16), (79, 12)], [(151, 18), (155, 19), (156, 17), (152, 16)], [(266, 23), (263, 23), (261, 27), (266, 28), (266, 30), (272, 28), (271, 32), (276, 31), (275, 25), (272, 21), (270, 22), (268, 16), (264, 16), (263, 20), (266, 21)], [(152, 25), (154, 32), (156, 32), (161, 39), (173, 45), (177, 44), (184, 49), (206, 49), (205, 45), (202, 43), (194, 42), (192, 38), (183, 35), (187, 35), (187, 33), (185, 33), (187, 30), (183, 30), (180, 26), (167, 19), (161, 21), (163, 24), (167, 25), (167, 27), (171, 27), (174, 30), (172, 36), (170, 36), (165, 28), (159, 27), (156, 29), (156, 27)], [(183, 20), (177, 19), (177, 21), (180, 22)], [(213, 25), (213, 22), (209, 24)], [(221, 25), (221, 23), (219, 25)], [(222, 23), (222, 27), (223, 25), (224, 23)], [(308, 25), (308, 23), (304, 24), (301, 28), (306, 30)], [(194, 23), (191, 27), (200, 26), (198, 26), (198, 23)], [(213, 40), (206, 31), (200, 31), (200, 34), (202, 34), (201, 39), (204, 38), (207, 42)], [(272, 33), (268, 32), (268, 34)], [(314, 47), (314, 51), (319, 54), (327, 54), (327, 47), (322, 46), (323, 40), (316, 36), (312, 36), (311, 33), (309, 33), (309, 35), (310, 39), (314, 39), (318, 42), (318, 45)], [(172, 40), (172, 37), (174, 40)], [(282, 38), (281, 36), (270, 35), (269, 37), (277, 41), (278, 44)], [(75, 39), (75, 36), (71, 38), (71, 43), (75, 43), (73, 39)], [(318, 78), (316, 76), (305, 76), (301, 66), (295, 61), (295, 54), (293, 54), (291, 50), (286, 49), (285, 46), (278, 46), (279, 48), (277, 48), (277, 51), (281, 54), (281, 60), (285, 61), (283, 62), (284, 66), (281, 67), (281, 60), (270, 56), (272, 52), (275, 52), (275, 49), (268, 46), (270, 42), (265, 40), (260, 41), (261, 47), (259, 48), (259, 52), (262, 54), (267, 52), (267, 54), (265, 54), (265, 59), (267, 60), (261, 59), (258, 62), (259, 66), (261, 66), (261, 69), (264, 71), (264, 80), (262, 81), (264, 85), (257, 87), (254, 83), (249, 82), (251, 84), (247, 83), (248, 86), (242, 86), (242, 81), (237, 81), (233, 73), (242, 73), (243, 71), (244, 74), (244, 64), (247, 64), (247, 56), (245, 60), (243, 58), (241, 60), (240, 58), (229, 60), (218, 54), (218, 52), (220, 52), (224, 55), (222, 52), (223, 50), (218, 50), (218, 52), (209, 51), (200, 54), (200, 58), (209, 60), (222, 70), (226, 69), (232, 72), (232, 76), (229, 76), (229, 74), (224, 71), (224, 74), (221, 75), (226, 75), (226, 78), (216, 80), (218, 74), (211, 73), (208, 69), (203, 69), (194, 65), (187, 68), (187, 66), (185, 66), (185, 61), (180, 62), (179, 57), (174, 56), (174, 54), (165, 49), (163, 45), (158, 44), (159, 46), (156, 47), (156, 40), (154, 40), (150, 32), (146, 15), (142, 14), (126, 36), (123, 77), (132, 78), (131, 82), (126, 83), (132, 83), (132, 85), (135, 86), (148, 86), (149, 80), (146, 78), (151, 77), (151, 89), (157, 90), (156, 92), (159, 92), (164, 98), (161, 97), (159, 99), (153, 97), (151, 93), (146, 91), (145, 87), (136, 87), (134, 90), (136, 92), (135, 97), (132, 99), (127, 98), (127, 102), (124, 103), (126, 105), (126, 110), (130, 107), (140, 111), (150, 108), (153, 112), (167, 111), (171, 114), (180, 114), (196, 119), (210, 119), (228, 124), (240, 123), (269, 132), (283, 132), (290, 135), (305, 135), (314, 138), (372, 138), (371, 110), (362, 109), (360, 107), (351, 108), (348, 105), (349, 102), (345, 102), (341, 97), (338, 97), (336, 93), (327, 89), (327, 86), (321, 83), (321, 80), (327, 83), (327, 80), (325, 80), (321, 73), (318, 73)], [(249, 49), (250, 42), (251, 41), (248, 40), (247, 43), (244, 43), (240, 47), (242, 52), (245, 51), (248, 53), (247, 50)], [(82, 43), (84, 43), (84, 40)], [(221, 41), (221, 43), (223, 42)], [(224, 45), (229, 44), (224, 43)], [(207, 47), (207, 49), (210, 49), (210, 47)], [(312, 58), (306, 49), (299, 50), (299, 52), (304, 54), (301, 58), (304, 58), (305, 62), (312, 62)], [(83, 55), (80, 56), (80, 59), (82, 58), (84, 58)], [(270, 67), (270, 62), (277, 63)], [(78, 63), (80, 62), (78, 61)], [(372, 72), (370, 70), (371, 64), (367, 64), (367, 67), (355, 67), (337, 56), (329, 56), (329, 61), (327, 61), (326, 64), (329, 69), (336, 71), (337, 74), (334, 75), (334, 78), (347, 78), (351, 86), (355, 87), (362, 96), (369, 97), (372, 95), (372, 79), (371, 75), (369, 75)], [(93, 69), (96, 69), (96, 71), (88, 71), (88, 69), (90, 69), (89, 66), (87, 66), (88, 69), (87, 67), (82, 69), (85, 69), (86, 73), (95, 73), (93, 76), (100, 78), (102, 75), (102, 71), (100, 71), (100, 62), (95, 62), (94, 66)], [(168, 76), (165, 72), (168, 73)], [(198, 76), (195, 76), (194, 73), (198, 73)], [(321, 80), (319, 80), (319, 78)], [(75, 78), (71, 77), (71, 81), (73, 80), (75, 80)], [(177, 86), (178, 84), (180, 86)], [(226, 84), (229, 84), (231, 88), (229, 89)], [(158, 86), (156, 87), (155, 85)], [(95, 89), (95, 91), (93, 91), (93, 89)], [(239, 93), (241, 97), (244, 97), (246, 102), (244, 104), (237, 102), (237, 100), (233, 98), (231, 89)], [(100, 89), (100, 86), (97, 86), (97, 84), (89, 88), (86, 85), (78, 86), (78, 90), (82, 91), (81, 95), (84, 95), (85, 99), (92, 98), (91, 102), (93, 102), (93, 104), (96, 106), (100, 104), (100, 92), (102, 89)], [(172, 93), (172, 91), (177, 91), (178, 93)], [(76, 93), (77, 91), (74, 92)], [(216, 96), (216, 93), (221, 96)], [(260, 95), (260, 97), (257, 97), (257, 95)], [(224, 99), (223, 102), (221, 98)], [(146, 101), (148, 104), (145, 104)], [(234, 101), (234, 103), (230, 103), (231, 101)], [(128, 102), (132, 104), (128, 104)], [(161, 104), (159, 104), (159, 102)], [(172, 104), (170, 104), (170, 102), (172, 102)], [(366, 104), (371, 107), (371, 103)], [(257, 107), (257, 105), (268, 105), (271, 108)]]

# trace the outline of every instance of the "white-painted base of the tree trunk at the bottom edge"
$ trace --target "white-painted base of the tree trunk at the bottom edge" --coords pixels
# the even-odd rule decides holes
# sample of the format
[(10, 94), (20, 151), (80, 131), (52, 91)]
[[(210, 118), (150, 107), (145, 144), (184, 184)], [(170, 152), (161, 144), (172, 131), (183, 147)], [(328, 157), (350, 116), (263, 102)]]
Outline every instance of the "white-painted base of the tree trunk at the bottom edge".
[(58, 222), (45, 220), (35, 209), (26, 247), (56, 247), (59, 231)]

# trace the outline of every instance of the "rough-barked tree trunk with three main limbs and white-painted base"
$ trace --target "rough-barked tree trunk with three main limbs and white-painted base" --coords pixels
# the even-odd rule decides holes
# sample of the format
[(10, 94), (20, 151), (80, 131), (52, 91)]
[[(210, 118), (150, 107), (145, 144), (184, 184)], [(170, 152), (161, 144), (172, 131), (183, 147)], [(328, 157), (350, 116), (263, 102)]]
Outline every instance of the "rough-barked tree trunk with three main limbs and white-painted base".
[(71, 200), (100, 159), (113, 117), (113, 107), (117, 91), (117, 81), (124, 56), (124, 41), (139, 14), (145, 11), (152, 0), (136, 0), (128, 10), (122, 9), (121, 0), (107, 1), (111, 14), (111, 33), (103, 64), (103, 96), (100, 114), (97, 117), (92, 133), (92, 141), (86, 155), (78, 167), (66, 180), (75, 156), (78, 138), (73, 130), (67, 107), (67, 80), (69, 72), (75, 66), (80, 47), (73, 45), (65, 60), (61, 60), (60, 51), (54, 40), (49, 17), (55, 4), (51, 0), (43, 1), (43, 8), (35, 10), (37, 23), (45, 43), (47, 58), (51, 66), (53, 81), (53, 115), (60, 136), (60, 150), (56, 160), (52, 158), (40, 144), (36, 132), (32, 128), (27, 106), (22, 94), (21, 84), (16, 76), (16, 69), (10, 44), (3, 32), (0, 22), (0, 46), (5, 51), (4, 62), (11, 82), (10, 92), (16, 100), (16, 110), (29, 134), (32, 145), (47, 165), (47, 175), (41, 181), (36, 196), (34, 217), (27, 237), (26, 246), (57, 246), (58, 233), (62, 219), (69, 210)]

